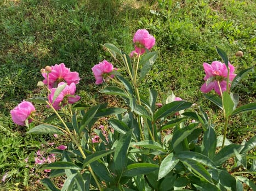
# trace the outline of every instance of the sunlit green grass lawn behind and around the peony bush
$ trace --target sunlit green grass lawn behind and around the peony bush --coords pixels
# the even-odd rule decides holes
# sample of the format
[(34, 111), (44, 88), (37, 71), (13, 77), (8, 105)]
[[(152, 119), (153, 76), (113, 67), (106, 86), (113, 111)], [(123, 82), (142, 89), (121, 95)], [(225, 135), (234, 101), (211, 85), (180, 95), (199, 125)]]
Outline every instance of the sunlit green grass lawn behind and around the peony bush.
[[(45, 65), (64, 62), (78, 71), (81, 102), (95, 104), (101, 98), (100, 87), (95, 87), (90, 68), (110, 58), (102, 45), (112, 43), (132, 51), (134, 32), (146, 28), (156, 38), (153, 49), (159, 56), (142, 91), (147, 94), (148, 88), (156, 88), (162, 103), (173, 91), (202, 104), (216, 122), (221, 121), (218, 109), (211, 109), (198, 91), (202, 63), (221, 60), (215, 51), (218, 45), (237, 70), (255, 65), (254, 1), (5, 0), (0, 8), (0, 177), (9, 172), (7, 181), (0, 182), (4, 190), (38, 188), (31, 187), (38, 177), (29, 169), (45, 137), (27, 136), (26, 128), (12, 123), (9, 111), (39, 94), (36, 85)], [(238, 50), (243, 51), (242, 58), (235, 56)], [(255, 76), (254, 71), (235, 89), (242, 103), (255, 102)], [(254, 116), (250, 112), (232, 119), (229, 138), (241, 142), (255, 134)], [(216, 129), (222, 130), (220, 125)]]

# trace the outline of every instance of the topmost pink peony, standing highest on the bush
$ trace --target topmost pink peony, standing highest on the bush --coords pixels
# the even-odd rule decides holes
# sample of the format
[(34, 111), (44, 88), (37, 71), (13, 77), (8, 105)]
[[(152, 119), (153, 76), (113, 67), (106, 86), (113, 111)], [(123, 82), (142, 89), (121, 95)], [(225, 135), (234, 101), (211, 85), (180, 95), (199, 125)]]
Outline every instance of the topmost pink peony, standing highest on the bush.
[(133, 37), (136, 53), (143, 54), (145, 49), (151, 49), (156, 43), (156, 39), (149, 34), (146, 29), (138, 29)]

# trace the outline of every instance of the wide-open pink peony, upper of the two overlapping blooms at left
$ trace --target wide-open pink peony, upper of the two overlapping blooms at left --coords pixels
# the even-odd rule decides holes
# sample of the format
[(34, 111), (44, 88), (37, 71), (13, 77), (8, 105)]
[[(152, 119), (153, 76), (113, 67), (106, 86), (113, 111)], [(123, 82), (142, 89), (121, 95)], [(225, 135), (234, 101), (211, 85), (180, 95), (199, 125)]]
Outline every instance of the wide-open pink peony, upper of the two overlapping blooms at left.
[(42, 69), (43, 83), (45, 85), (47, 85), (47, 75), (49, 89), (57, 87), (60, 82), (66, 82), (67, 85), (71, 85), (71, 83), (79, 83), (80, 80), (79, 74), (76, 71), (70, 71), (70, 68), (66, 68), (64, 63), (52, 65), (51, 70)]

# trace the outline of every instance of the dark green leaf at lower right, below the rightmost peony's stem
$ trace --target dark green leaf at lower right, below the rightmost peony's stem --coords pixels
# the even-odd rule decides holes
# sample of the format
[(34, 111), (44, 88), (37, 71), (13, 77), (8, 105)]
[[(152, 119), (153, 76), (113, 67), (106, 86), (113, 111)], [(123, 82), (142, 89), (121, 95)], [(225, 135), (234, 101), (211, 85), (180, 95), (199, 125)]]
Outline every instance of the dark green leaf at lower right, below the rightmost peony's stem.
[[(241, 145), (227, 145), (223, 147), (216, 155), (213, 157), (213, 161), (216, 166), (221, 166), (227, 159), (230, 157), (235, 157), (234, 150), (239, 151), (241, 148)], [(239, 153), (239, 152), (238, 152)]]

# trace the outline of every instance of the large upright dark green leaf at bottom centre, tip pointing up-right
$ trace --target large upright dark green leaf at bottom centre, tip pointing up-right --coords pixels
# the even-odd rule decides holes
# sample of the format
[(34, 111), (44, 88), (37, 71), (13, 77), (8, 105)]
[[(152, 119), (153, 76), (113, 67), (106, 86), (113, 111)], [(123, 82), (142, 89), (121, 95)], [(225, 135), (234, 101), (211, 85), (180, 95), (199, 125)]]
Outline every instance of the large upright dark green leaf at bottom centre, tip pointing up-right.
[(118, 140), (116, 145), (115, 154), (113, 160), (115, 162), (115, 170), (119, 175), (122, 174), (123, 170), (126, 169), (126, 165), (128, 162), (128, 149), (130, 145), (130, 141), (132, 140), (132, 129), (124, 134), (120, 140)]

